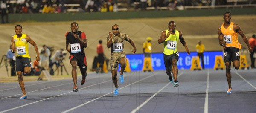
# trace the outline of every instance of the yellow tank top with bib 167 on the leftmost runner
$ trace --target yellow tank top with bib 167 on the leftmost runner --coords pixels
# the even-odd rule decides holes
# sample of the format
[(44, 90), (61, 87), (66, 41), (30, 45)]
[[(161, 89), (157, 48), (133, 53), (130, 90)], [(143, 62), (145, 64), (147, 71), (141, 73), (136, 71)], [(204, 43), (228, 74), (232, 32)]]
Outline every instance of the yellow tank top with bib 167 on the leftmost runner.
[(17, 35), (13, 36), (14, 43), (17, 53), (17, 57), (26, 57), (30, 58), (29, 56), (29, 43), (26, 41), (26, 34), (22, 34), (20, 38), (17, 37)]

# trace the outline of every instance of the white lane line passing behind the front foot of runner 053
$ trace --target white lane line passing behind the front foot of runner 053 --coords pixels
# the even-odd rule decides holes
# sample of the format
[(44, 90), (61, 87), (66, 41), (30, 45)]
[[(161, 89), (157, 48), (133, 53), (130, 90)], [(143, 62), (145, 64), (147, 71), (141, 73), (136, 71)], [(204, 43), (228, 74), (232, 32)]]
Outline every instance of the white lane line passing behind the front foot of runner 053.
[[(112, 79), (111, 79), (111, 80), (108, 80), (108, 81), (112, 81)], [(87, 87), (92, 87), (92, 86), (99, 85), (99, 84), (102, 84), (102, 83), (105, 83), (105, 82), (108, 82), (108, 81), (104, 81), (104, 82), (101, 82), (101, 83), (93, 84), (93, 85), (90, 85), (90, 86), (87, 86)], [(81, 89), (84, 89), (84, 88), (87, 88), (87, 87), (83, 87), (83, 88), (81, 88)], [(81, 89), (80, 89), (80, 90), (81, 90)], [(73, 92), (73, 91), (70, 91), (70, 92), (67, 92), (67, 93), (71, 93), (71, 92)], [(62, 93), (62, 94), (59, 94), (59, 95), (57, 95), (57, 96), (61, 96), (61, 95), (67, 94), (67, 93)], [(49, 97), (49, 98), (47, 98), (47, 99), (42, 99), (42, 100), (40, 100), (40, 101), (52, 99), (52, 98), (57, 97), (57, 96), (52, 96), (52, 97)], [(3, 111), (0, 111), (0, 113), (5, 113), (5, 112), (8, 112), (8, 111), (10, 111), (10, 110), (15, 110), (15, 109), (18, 109), (18, 108), (20, 108), (20, 107), (28, 106), (28, 105), (30, 105), (30, 104), (35, 104), (35, 103), (38, 103), (38, 102), (40, 102), (40, 101), (35, 101), (35, 102), (29, 103), (29, 104), (24, 104), (24, 105), (19, 106), (19, 107), (14, 107), (14, 108), (11, 108), (11, 109), (8, 109), (8, 110), (3, 110)]]

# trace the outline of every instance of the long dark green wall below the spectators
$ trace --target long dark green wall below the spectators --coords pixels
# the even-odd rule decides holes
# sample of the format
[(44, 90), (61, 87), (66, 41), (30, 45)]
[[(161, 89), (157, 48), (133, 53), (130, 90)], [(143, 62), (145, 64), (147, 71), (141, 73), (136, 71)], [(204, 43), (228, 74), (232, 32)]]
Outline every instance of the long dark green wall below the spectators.
[(215, 16), (224, 12), (232, 15), (255, 15), (256, 8), (239, 9), (196, 9), (196, 10), (158, 10), (136, 12), (85, 12), (85, 13), (49, 13), (49, 14), (9, 14), (9, 22), (50, 22), (50, 21), (74, 21), (74, 20), (108, 20), (108, 19), (131, 19), (131, 18), (160, 18), (160, 17), (193, 17)]

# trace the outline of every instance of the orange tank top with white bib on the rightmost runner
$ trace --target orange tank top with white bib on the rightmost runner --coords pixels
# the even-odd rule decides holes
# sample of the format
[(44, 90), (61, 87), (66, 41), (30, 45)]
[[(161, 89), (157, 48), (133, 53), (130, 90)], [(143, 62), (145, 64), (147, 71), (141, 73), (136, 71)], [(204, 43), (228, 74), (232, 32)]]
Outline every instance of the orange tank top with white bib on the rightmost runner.
[(236, 47), (241, 49), (241, 44), (238, 42), (238, 34), (233, 30), (233, 22), (230, 23), (230, 26), (224, 28), (224, 23), (221, 25), (221, 32), (224, 36), (224, 41), (227, 44), (227, 47)]

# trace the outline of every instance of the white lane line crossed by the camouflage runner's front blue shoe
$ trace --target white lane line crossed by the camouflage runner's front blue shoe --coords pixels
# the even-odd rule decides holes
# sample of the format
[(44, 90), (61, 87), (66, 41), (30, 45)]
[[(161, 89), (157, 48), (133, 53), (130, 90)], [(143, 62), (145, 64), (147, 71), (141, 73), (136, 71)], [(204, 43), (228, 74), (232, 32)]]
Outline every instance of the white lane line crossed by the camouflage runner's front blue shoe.
[[(148, 76), (148, 77), (146, 77), (146, 78), (143, 78), (143, 79), (141, 79), (141, 80), (139, 80), (139, 81), (143, 81), (143, 80), (145, 80), (145, 79), (147, 79), (147, 78), (149, 78), (149, 77), (152, 77), (152, 76), (154, 76), (154, 74), (152, 74), (152, 75), (150, 75), (150, 76)], [(130, 86), (130, 85), (132, 85), (132, 84), (135, 84), (135, 83), (137, 83), (137, 82), (139, 82), (139, 81), (135, 81), (134, 83), (128, 84), (128, 85), (126, 85), (125, 87), (128, 87), (128, 86)], [(119, 90), (121, 90), (121, 89), (123, 89), (123, 88), (125, 88), (125, 87), (119, 88)], [(112, 91), (112, 92), (110, 92), (110, 93), (107, 93), (107, 94), (105, 94), (105, 95), (103, 95), (103, 96), (100, 96), (100, 97), (98, 97), (98, 98), (95, 98), (95, 99), (93, 99), (93, 100), (91, 100), (91, 101), (87, 101), (86, 103), (81, 104), (81, 105), (79, 105), (79, 106), (76, 106), (76, 107), (70, 108), (70, 109), (68, 109), (68, 110), (65, 110), (65, 111), (63, 111), (63, 112), (61, 112), (61, 113), (67, 113), (67, 112), (70, 112), (70, 111), (72, 111), (72, 110), (75, 110), (75, 109), (78, 108), (78, 107), (84, 106), (84, 105), (86, 105), (86, 104), (88, 104), (88, 103), (90, 103), (90, 102), (92, 102), (92, 101), (95, 101), (95, 100), (97, 100), (97, 99), (100, 99), (100, 98), (102, 98), (102, 97), (104, 97), (104, 96), (107, 96), (107, 95), (113, 93), (113, 92), (114, 92), (114, 91)]]

